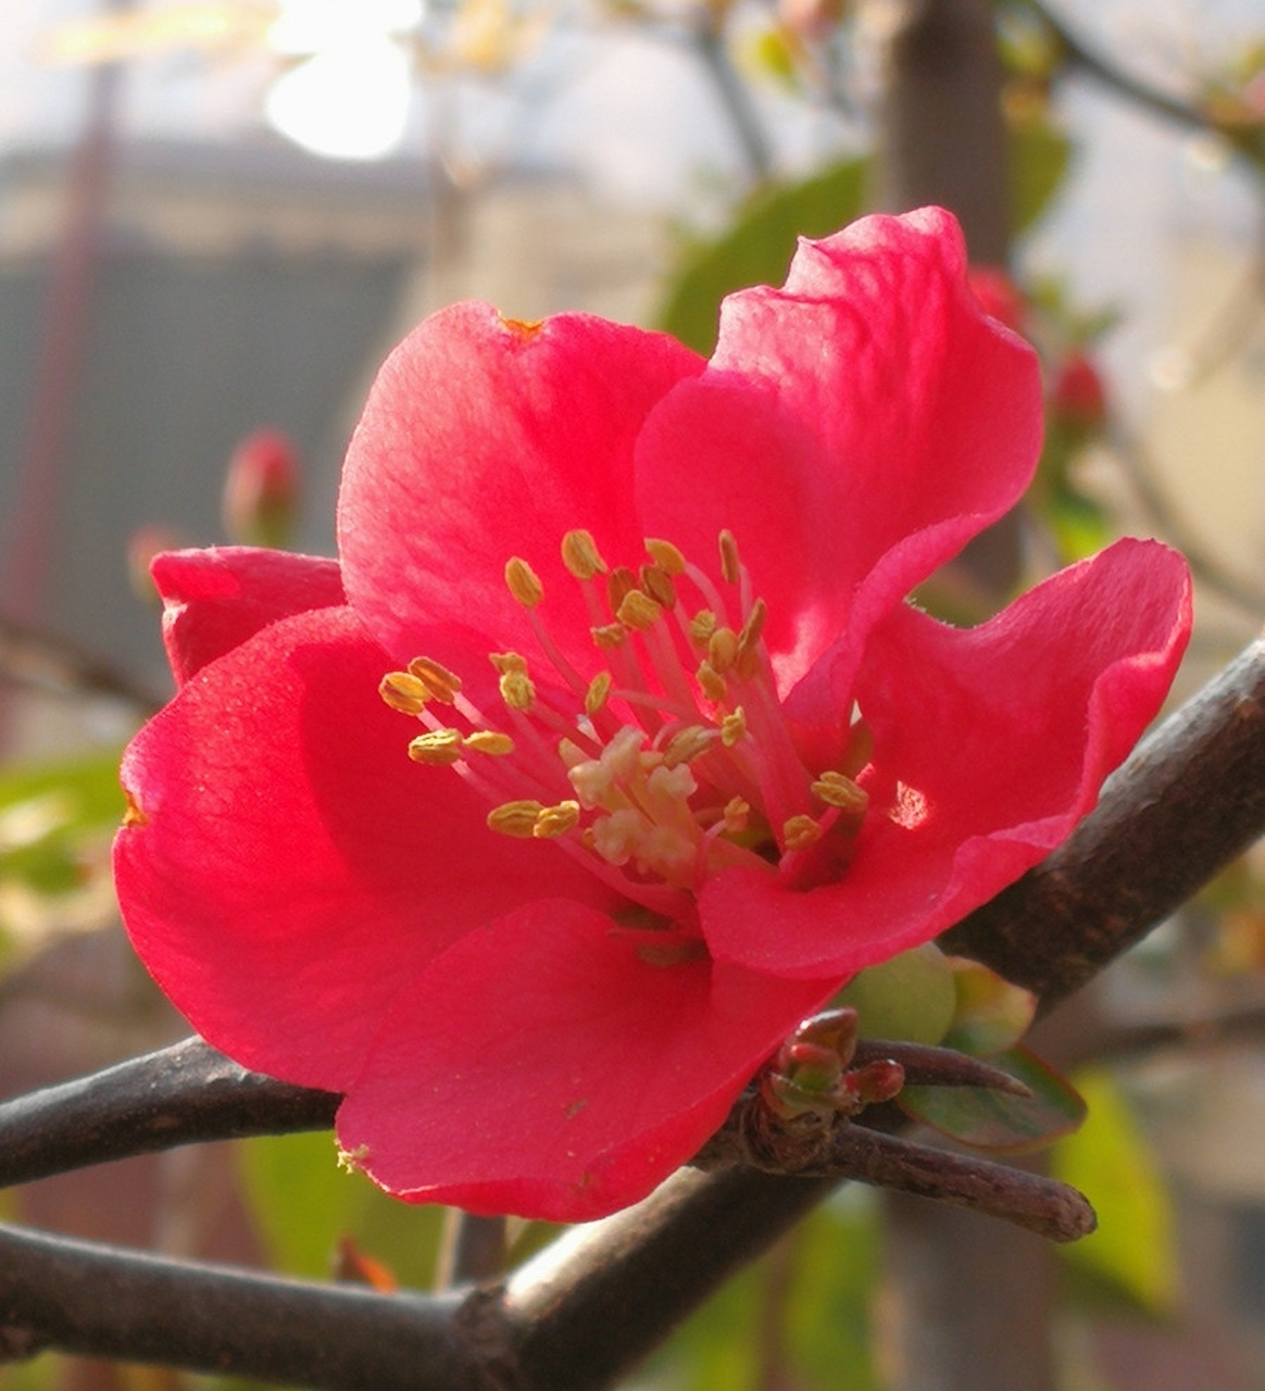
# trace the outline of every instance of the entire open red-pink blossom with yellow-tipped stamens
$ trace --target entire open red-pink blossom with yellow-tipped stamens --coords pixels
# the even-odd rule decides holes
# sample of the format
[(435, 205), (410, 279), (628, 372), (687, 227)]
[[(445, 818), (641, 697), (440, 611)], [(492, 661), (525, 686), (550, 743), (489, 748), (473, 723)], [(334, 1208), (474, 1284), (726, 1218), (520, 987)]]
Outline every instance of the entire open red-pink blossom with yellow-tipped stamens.
[(938, 210), (804, 242), (710, 363), (436, 314), (370, 394), (337, 563), (156, 563), (181, 689), (122, 769), (138, 951), (212, 1043), (347, 1093), (399, 1196), (642, 1198), (1155, 714), (1190, 623), (1163, 547), (970, 632), (906, 602), (1019, 498), (1040, 402)]

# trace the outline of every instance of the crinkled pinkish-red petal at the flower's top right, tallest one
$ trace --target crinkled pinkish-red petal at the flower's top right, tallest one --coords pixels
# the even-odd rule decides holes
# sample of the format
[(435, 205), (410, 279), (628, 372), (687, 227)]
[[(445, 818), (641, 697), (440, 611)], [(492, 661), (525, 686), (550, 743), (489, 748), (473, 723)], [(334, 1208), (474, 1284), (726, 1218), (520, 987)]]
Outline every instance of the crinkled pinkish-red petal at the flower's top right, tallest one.
[(848, 701), (864, 633), (1023, 492), (1041, 444), (1027, 345), (967, 288), (938, 209), (802, 242), (783, 291), (731, 295), (708, 370), (639, 444), (646, 526), (711, 555), (729, 527), (770, 606), (792, 709)]

